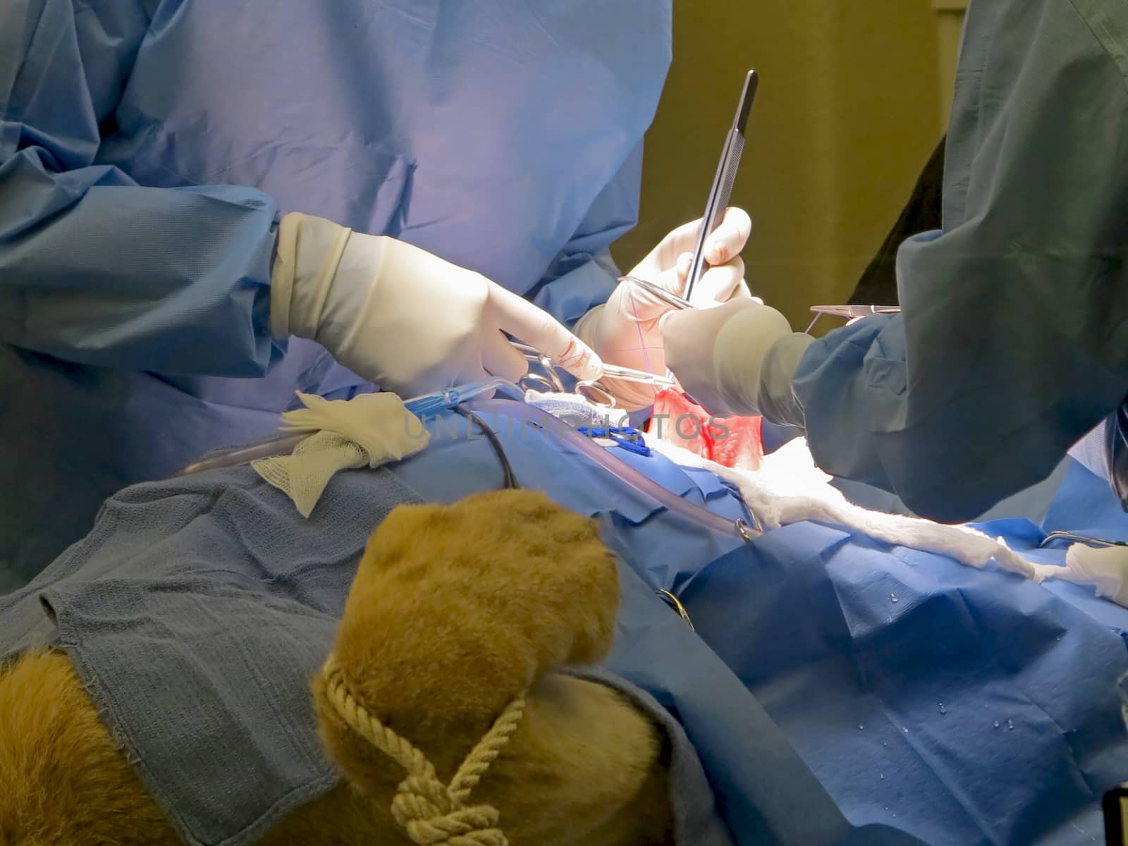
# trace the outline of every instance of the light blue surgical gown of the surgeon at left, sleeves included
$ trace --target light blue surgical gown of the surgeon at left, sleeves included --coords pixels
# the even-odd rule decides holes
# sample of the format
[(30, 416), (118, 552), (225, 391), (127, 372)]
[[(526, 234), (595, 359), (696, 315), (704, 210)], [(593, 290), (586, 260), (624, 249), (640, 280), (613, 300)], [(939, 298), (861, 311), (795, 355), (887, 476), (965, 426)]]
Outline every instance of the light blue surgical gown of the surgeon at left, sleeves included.
[(0, 591), (296, 389), (372, 389), (272, 341), (282, 213), (602, 301), (670, 2), (0, 3)]

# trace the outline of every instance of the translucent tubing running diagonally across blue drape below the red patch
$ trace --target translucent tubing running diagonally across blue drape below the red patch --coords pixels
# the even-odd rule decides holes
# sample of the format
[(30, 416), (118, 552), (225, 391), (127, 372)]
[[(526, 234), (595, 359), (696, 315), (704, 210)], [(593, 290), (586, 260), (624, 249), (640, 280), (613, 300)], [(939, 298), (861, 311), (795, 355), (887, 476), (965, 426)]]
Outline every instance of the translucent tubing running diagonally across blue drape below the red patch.
[(751, 512), (749, 512), (749, 517), (755, 526), (747, 526), (721, 514), (715, 514), (695, 503), (687, 502), (672, 491), (668, 491), (631, 465), (611, 455), (613, 450), (600, 447), (591, 438), (580, 434), (572, 426), (535, 406), (508, 399), (483, 399), (473, 403), (472, 407), (477, 412), (493, 411), (511, 420), (520, 420), (553, 432), (561, 441), (574, 448), (578, 452), (582, 452), (625, 485), (633, 487), (652, 500), (656, 500), (667, 511), (684, 517), (695, 525), (728, 537), (743, 537), (746, 540), (764, 534), (758, 528), (759, 521)]

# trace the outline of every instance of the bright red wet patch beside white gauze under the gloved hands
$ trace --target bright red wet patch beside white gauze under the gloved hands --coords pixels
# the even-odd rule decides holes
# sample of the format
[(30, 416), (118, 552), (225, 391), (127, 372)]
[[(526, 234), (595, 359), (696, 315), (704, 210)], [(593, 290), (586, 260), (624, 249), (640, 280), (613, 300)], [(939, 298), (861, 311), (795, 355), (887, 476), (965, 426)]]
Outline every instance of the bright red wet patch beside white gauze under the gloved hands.
[(724, 467), (758, 470), (764, 462), (760, 423), (760, 417), (715, 417), (685, 394), (666, 388), (654, 397), (645, 432)]

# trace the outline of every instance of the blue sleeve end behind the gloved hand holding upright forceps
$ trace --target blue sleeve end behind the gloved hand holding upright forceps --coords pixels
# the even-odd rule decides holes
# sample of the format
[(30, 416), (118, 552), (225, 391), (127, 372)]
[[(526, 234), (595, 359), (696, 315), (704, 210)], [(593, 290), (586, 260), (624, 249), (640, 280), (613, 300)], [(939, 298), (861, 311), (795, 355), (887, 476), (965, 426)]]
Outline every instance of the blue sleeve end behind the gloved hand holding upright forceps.
[(565, 326), (573, 326), (589, 309), (606, 302), (622, 275), (609, 247), (638, 222), (642, 151), (640, 142), (529, 292), (529, 299)]

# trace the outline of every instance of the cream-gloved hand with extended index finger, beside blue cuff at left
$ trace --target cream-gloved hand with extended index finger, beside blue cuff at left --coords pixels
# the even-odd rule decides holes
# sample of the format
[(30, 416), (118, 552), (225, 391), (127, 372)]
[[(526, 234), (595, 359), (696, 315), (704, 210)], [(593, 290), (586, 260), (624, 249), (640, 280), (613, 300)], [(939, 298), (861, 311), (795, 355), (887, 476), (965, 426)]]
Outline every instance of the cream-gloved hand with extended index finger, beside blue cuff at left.
[(344, 367), (408, 398), (528, 362), (508, 332), (581, 379), (602, 362), (550, 315), (485, 276), (405, 241), (292, 212), (279, 226), (271, 332), (309, 338)]

